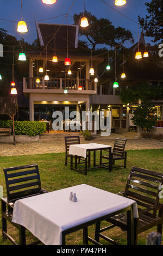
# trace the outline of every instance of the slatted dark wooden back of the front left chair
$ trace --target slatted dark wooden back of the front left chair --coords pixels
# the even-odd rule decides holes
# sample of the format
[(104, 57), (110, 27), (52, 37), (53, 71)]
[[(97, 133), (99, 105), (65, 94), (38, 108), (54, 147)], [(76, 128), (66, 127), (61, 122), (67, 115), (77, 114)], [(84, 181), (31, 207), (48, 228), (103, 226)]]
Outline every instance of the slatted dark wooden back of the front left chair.
[(11, 202), (41, 194), (41, 180), (37, 164), (4, 169), (7, 197)]

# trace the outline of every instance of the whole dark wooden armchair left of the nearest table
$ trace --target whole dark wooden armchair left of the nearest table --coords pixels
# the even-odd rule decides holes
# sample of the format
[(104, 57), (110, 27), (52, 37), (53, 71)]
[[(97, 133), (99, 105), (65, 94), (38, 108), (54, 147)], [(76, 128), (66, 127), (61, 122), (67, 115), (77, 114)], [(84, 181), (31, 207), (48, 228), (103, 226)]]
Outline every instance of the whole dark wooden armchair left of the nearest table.
[[(37, 164), (27, 166), (11, 167), (4, 169), (7, 187), (7, 198), (1, 198), (2, 204), (2, 236), (8, 238), (14, 245), (18, 243), (7, 232), (7, 221), (19, 230), (20, 245), (26, 245), (26, 228), (12, 222), (14, 203), (18, 199), (47, 193), (41, 188), (39, 168)], [(31, 245), (40, 243), (36, 241)]]

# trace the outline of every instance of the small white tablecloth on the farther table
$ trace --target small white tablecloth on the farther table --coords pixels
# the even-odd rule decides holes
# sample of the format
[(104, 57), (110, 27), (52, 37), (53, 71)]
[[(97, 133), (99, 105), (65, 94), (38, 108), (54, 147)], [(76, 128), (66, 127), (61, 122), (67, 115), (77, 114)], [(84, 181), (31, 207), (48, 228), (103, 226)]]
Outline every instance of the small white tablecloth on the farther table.
[(86, 158), (86, 150), (87, 149), (101, 149), (101, 148), (109, 148), (109, 145), (97, 144), (97, 143), (89, 143), (89, 144), (76, 144), (70, 145), (69, 154), (82, 156)]

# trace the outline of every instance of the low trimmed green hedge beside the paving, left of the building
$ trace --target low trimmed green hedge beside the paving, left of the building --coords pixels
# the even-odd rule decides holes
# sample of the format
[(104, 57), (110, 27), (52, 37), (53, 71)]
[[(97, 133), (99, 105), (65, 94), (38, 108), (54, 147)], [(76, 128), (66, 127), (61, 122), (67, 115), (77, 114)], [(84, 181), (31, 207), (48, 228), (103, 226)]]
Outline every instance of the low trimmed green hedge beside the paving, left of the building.
[[(40, 121), (15, 121), (15, 135), (36, 136), (46, 131), (46, 123)], [(12, 128), (12, 120), (1, 121), (0, 127)]]

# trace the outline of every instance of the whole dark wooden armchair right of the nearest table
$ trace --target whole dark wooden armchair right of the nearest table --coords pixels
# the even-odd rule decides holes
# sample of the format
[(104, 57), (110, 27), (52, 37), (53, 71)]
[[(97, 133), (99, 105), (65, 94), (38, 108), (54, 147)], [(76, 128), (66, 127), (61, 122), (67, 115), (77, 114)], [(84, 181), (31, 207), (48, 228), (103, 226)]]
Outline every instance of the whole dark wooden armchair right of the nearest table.
[[(157, 230), (162, 234), (163, 223), (163, 204), (159, 204), (160, 190), (163, 185), (163, 174), (152, 172), (151, 170), (132, 167), (128, 176), (124, 197), (133, 199), (137, 202), (139, 218), (134, 219), (135, 245), (137, 244), (137, 235), (150, 228), (157, 226)], [(106, 220), (111, 225), (100, 229), (100, 223), (96, 225), (95, 240), (99, 242), (99, 237), (115, 243), (109, 237), (101, 234), (103, 231), (120, 227), (128, 230), (126, 215), (120, 214)]]

